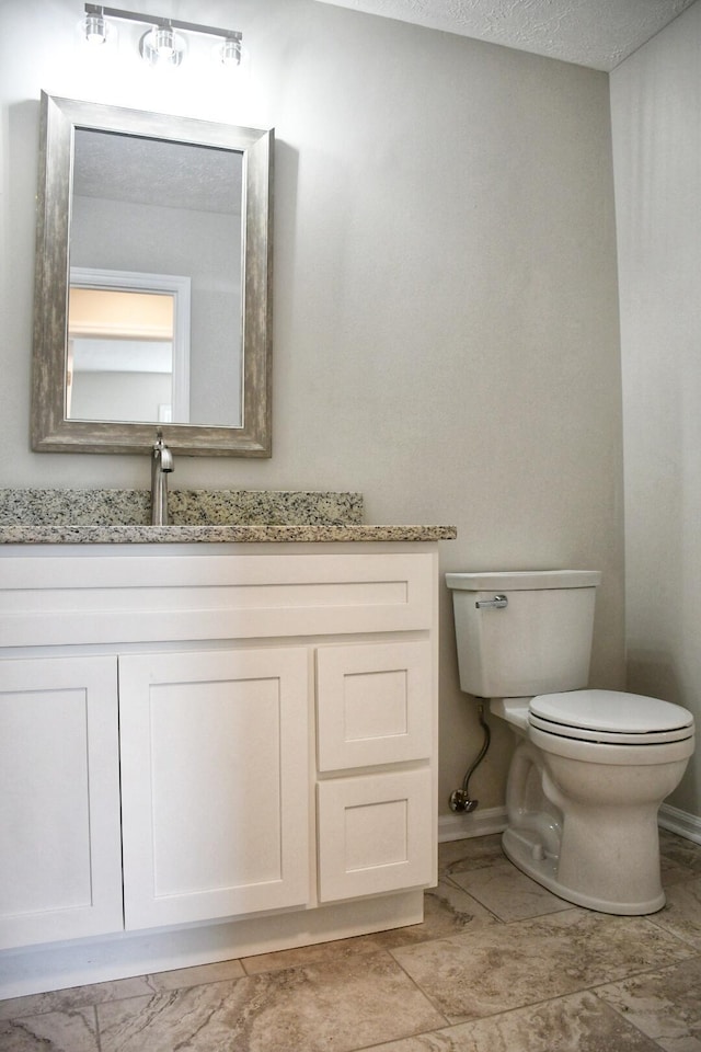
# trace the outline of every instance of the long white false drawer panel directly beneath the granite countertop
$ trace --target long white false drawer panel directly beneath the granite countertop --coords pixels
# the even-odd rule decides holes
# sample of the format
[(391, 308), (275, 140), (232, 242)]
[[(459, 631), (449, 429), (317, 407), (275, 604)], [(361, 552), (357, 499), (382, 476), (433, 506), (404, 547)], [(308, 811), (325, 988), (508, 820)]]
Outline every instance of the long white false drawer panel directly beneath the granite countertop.
[(0, 586), (4, 647), (430, 629), (430, 552), (22, 556)]

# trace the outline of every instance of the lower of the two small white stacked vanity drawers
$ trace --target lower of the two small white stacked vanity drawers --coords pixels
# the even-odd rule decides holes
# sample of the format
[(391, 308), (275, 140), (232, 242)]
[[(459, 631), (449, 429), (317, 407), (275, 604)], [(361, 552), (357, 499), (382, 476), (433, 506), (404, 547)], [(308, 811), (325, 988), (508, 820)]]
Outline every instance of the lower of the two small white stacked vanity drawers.
[(322, 782), (318, 812), (321, 902), (430, 883), (428, 768)]

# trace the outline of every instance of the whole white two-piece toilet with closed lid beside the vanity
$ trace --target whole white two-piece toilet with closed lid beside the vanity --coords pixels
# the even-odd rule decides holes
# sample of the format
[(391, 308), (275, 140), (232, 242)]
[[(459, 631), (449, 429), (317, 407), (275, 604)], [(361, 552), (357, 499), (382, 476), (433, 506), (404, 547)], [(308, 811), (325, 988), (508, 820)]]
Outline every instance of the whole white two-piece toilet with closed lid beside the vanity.
[(602, 913), (665, 904), (657, 811), (694, 747), (678, 705), (585, 689), (600, 573), (448, 573), (460, 687), (517, 737), (507, 857), (554, 894)]

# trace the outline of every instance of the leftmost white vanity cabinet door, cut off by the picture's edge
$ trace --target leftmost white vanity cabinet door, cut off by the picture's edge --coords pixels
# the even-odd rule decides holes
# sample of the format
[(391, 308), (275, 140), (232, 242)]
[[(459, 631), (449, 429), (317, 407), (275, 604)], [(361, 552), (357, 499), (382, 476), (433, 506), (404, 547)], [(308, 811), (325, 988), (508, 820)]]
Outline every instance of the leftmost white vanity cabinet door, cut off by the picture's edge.
[(0, 946), (123, 927), (115, 658), (0, 661)]

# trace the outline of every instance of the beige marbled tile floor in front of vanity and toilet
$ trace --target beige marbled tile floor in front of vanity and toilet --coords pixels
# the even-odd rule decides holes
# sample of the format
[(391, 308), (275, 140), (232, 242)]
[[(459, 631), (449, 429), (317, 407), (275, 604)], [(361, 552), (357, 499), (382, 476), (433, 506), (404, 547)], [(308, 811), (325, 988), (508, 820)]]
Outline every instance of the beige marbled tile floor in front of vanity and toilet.
[(701, 846), (662, 853), (665, 908), (612, 917), (456, 841), (422, 925), (0, 1002), (0, 1050), (701, 1052)]

